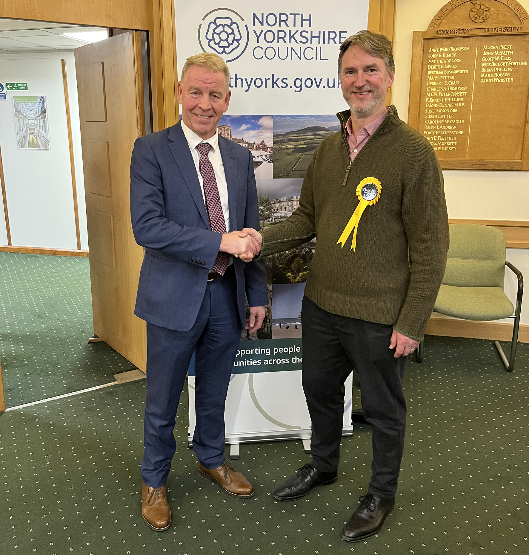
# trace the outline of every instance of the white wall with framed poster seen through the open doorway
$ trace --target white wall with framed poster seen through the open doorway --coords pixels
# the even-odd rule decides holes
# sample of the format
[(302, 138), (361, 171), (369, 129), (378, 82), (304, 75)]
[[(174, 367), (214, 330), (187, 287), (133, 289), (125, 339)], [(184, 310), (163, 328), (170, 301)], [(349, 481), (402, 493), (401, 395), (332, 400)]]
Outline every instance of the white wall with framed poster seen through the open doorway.
[[(0, 147), (13, 245), (77, 248), (61, 58), (66, 59), (68, 75), (81, 248), (88, 249), (79, 108), (72, 51), (0, 54), (0, 82), (28, 83), (27, 91), (8, 92), (7, 100), (0, 100)], [(46, 97), (50, 150), (18, 148), (14, 95)], [(3, 210), (1, 212), (0, 243), (7, 245)]]

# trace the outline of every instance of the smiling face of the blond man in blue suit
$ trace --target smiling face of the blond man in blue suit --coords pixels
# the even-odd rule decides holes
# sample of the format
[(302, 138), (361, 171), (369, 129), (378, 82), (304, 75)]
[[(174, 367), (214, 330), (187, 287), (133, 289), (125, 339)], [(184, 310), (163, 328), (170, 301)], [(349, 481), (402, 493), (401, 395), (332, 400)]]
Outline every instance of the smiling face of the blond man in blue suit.
[(226, 85), (224, 73), (210, 72), (199, 65), (192, 65), (178, 83), (182, 120), (202, 139), (213, 137), (228, 109), (232, 92)]

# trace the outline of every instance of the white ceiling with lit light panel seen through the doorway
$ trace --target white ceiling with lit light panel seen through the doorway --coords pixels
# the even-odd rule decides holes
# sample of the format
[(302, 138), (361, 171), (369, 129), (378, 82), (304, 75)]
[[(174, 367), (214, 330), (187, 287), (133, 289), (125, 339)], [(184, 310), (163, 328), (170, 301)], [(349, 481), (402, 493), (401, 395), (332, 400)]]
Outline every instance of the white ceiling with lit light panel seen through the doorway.
[[(98, 32), (82, 35), (82, 39), (65, 36), (65, 33)], [(101, 27), (0, 18), (0, 54), (73, 50), (107, 37), (107, 29)]]

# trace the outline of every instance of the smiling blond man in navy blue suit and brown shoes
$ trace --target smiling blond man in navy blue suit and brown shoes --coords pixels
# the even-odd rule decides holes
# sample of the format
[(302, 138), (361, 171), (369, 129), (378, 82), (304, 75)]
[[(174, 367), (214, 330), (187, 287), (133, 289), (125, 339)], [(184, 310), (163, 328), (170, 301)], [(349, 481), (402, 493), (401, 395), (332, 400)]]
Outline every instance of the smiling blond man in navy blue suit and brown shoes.
[(235, 497), (254, 493), (224, 458), (224, 403), (241, 330), (259, 329), (268, 304), (263, 262), (251, 261), (259, 246), (239, 231), (259, 226), (253, 158), (217, 130), (228, 83), (217, 54), (188, 58), (178, 83), (181, 122), (137, 139), (132, 153), (132, 229), (145, 247), (135, 310), (147, 321), (142, 514), (155, 530), (171, 523), (166, 480), (193, 352), (198, 473)]

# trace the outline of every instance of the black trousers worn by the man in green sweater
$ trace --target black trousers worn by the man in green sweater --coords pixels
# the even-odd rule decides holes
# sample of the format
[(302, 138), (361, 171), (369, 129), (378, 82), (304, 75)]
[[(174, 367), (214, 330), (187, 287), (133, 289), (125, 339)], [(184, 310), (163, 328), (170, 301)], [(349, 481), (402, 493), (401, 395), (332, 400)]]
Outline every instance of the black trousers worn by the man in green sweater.
[(361, 382), (362, 410), (373, 438), (369, 493), (392, 498), (404, 448), (407, 357), (389, 349), (391, 325), (331, 314), (304, 297), (302, 384), (312, 421), (312, 463), (333, 472), (340, 460), (345, 380), (353, 367)]

